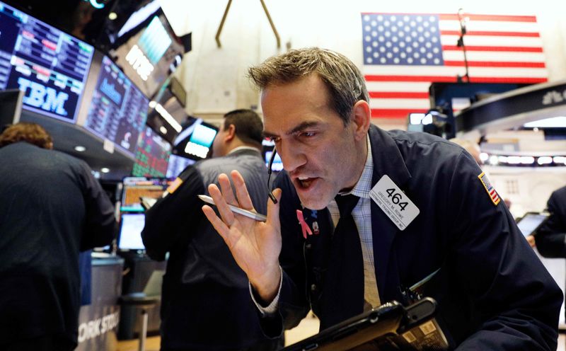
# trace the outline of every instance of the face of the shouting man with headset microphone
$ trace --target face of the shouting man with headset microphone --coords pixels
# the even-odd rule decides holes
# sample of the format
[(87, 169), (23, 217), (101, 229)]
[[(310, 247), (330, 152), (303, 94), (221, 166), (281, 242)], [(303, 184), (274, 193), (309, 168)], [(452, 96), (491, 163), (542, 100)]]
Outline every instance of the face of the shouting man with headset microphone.
[(365, 155), (359, 155), (361, 137), (354, 132), (357, 124), (351, 121), (345, 127), (329, 99), (328, 89), (314, 74), (262, 91), (265, 134), (275, 141), (309, 209), (323, 209), (340, 190), (353, 188), (365, 161)]

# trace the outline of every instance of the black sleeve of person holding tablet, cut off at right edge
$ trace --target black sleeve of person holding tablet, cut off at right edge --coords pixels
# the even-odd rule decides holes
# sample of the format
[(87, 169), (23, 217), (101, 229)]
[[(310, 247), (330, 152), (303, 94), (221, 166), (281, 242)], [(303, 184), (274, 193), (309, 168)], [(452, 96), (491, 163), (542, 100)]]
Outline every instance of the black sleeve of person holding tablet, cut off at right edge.
[(553, 192), (547, 207), (550, 217), (536, 231), (536, 248), (544, 257), (566, 258), (566, 199), (562, 199), (561, 203), (560, 192)]

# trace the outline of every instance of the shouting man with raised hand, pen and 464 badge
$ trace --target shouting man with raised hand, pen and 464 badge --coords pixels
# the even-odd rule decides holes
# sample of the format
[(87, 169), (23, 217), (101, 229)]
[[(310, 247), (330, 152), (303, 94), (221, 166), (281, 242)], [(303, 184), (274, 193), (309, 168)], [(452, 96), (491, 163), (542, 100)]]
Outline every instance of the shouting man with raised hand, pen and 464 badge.
[(560, 289), (468, 153), (370, 125), (364, 77), (342, 54), (291, 50), (249, 75), (285, 169), (279, 202), (265, 223), (233, 214), (227, 204), (254, 207), (232, 172), (236, 197), (227, 175), (209, 186), (221, 218), (202, 210), (248, 275), (266, 333), (309, 308), (328, 328), (437, 272), (423, 291), (458, 350), (555, 350)]

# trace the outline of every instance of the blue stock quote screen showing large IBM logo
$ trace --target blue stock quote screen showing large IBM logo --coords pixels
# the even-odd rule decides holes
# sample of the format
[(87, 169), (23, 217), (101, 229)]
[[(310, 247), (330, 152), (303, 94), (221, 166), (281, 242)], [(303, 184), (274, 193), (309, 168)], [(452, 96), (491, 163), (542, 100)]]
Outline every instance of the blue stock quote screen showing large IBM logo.
[(0, 90), (19, 88), (23, 108), (75, 122), (94, 48), (0, 2)]

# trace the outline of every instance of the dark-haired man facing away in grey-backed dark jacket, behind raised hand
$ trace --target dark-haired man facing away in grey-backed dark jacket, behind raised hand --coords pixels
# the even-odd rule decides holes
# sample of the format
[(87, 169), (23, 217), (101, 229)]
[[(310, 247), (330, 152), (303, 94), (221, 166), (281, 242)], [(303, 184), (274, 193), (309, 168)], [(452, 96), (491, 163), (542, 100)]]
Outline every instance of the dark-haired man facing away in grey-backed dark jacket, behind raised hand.
[(277, 349), (277, 340), (261, 331), (246, 274), (202, 215), (197, 197), (207, 194), (206, 185), (220, 173), (237, 169), (250, 190), (248, 200), (265, 211), (262, 127), (252, 110), (226, 113), (213, 159), (185, 168), (168, 195), (146, 212), (141, 236), (149, 257), (163, 260), (170, 253), (161, 299), (163, 351)]

